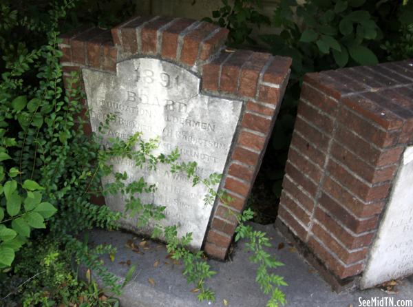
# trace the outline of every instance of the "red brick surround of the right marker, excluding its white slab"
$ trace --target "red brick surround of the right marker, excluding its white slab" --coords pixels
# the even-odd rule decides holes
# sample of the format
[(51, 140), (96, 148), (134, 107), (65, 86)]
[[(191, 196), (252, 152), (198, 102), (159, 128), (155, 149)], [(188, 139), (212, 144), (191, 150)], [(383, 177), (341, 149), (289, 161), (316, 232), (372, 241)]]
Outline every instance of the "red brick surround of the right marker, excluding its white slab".
[(339, 282), (358, 275), (412, 144), (412, 60), (306, 74), (277, 224)]

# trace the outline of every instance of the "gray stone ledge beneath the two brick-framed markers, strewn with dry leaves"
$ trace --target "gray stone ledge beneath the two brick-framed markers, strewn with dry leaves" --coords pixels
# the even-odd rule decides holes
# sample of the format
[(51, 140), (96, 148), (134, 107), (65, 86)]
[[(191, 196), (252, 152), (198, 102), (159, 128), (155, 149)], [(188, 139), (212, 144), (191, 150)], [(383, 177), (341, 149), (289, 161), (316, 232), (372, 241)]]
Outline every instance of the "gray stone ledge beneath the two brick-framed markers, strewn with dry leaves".
[[(283, 287), (289, 307), (349, 307), (361, 306), (360, 299), (382, 299), (390, 297), (394, 299), (413, 299), (413, 280), (403, 279), (396, 286), (395, 293), (385, 293), (379, 288), (368, 290), (346, 290), (339, 294), (333, 292), (311, 266), (306, 264), (300, 255), (289, 247), (284, 238), (277, 233), (272, 225), (262, 226), (253, 224), (257, 229), (264, 230), (272, 238), (275, 253), (285, 266), (275, 272), (284, 276), (289, 286)], [(125, 288), (125, 293), (120, 297), (123, 307), (195, 307), (195, 306), (224, 306), (223, 300), (228, 301), (229, 306), (236, 307), (264, 307), (267, 296), (262, 294), (255, 284), (256, 266), (248, 261), (250, 254), (246, 253), (242, 245), (235, 246), (233, 257), (228, 262), (209, 260), (214, 271), (218, 272), (207, 284), (216, 295), (215, 302), (199, 302), (195, 293), (191, 293), (193, 285), (187, 284), (182, 276), (182, 265), (173, 264), (167, 259), (167, 252), (162, 244), (150, 242), (148, 250), (138, 254), (125, 247), (127, 240), (134, 239), (130, 233), (119, 231), (105, 232), (93, 231), (90, 240), (97, 243), (110, 243), (118, 246), (116, 260), (111, 262), (108, 257), (103, 257), (107, 268), (118, 275), (125, 277), (129, 266), (119, 262), (131, 261), (136, 264), (136, 274), (133, 280)], [(135, 239), (140, 242), (139, 238)], [(279, 243), (284, 242), (285, 247), (277, 250)], [(153, 267), (158, 261), (159, 266)], [(169, 264), (165, 264), (168, 262)], [(81, 273), (82, 276), (83, 273)], [(151, 286), (148, 279), (155, 282)], [(364, 305), (368, 306), (368, 305)], [(372, 306), (372, 305), (370, 305)], [(385, 306), (385, 305), (377, 305)], [(396, 305), (394, 305), (396, 306)]]

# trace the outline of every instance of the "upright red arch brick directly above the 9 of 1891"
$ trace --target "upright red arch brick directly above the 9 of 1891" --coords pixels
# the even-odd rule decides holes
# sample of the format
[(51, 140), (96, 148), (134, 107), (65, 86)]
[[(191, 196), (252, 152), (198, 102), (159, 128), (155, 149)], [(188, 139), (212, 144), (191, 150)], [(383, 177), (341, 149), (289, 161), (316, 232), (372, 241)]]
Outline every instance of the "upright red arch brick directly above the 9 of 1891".
[(162, 57), (176, 60), (179, 34), (195, 23), (192, 19), (179, 19), (162, 33)]

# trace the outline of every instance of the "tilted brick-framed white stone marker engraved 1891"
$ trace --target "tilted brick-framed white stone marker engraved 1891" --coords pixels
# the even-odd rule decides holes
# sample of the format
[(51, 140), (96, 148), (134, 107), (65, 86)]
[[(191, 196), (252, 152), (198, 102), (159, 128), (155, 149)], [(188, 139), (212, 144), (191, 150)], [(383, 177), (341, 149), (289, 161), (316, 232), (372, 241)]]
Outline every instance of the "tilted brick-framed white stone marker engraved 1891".
[[(81, 70), (92, 131), (108, 114), (116, 120), (107, 137), (158, 137), (158, 153), (178, 147), (184, 162), (198, 162), (198, 175), (222, 173), (221, 188), (234, 202), (204, 204), (207, 189), (160, 166), (136, 169), (130, 160), (114, 170), (142, 176), (158, 191), (142, 202), (167, 207), (165, 225), (192, 233), (192, 247), (224, 259), (240, 213), (260, 167), (284, 88), (290, 59), (248, 50), (224, 50), (228, 31), (211, 23), (171, 17), (134, 17), (112, 31), (83, 29), (63, 36), (66, 73)], [(104, 178), (103, 184), (111, 178)], [(215, 191), (218, 189), (214, 187)], [(106, 204), (124, 211), (121, 195)], [(136, 220), (121, 221), (138, 233)]]

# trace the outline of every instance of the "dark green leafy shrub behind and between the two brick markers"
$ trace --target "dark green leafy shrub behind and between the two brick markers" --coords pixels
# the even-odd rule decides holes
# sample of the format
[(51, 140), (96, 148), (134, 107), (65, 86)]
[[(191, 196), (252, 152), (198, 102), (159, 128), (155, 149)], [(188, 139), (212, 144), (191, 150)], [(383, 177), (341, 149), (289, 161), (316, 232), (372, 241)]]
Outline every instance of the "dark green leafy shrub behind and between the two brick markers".
[[(250, 34), (267, 19), (255, 21), (260, 1), (222, 0), (222, 8), (209, 21), (230, 30), (231, 45), (253, 42)], [(261, 16), (261, 15), (260, 15)], [(246, 18), (248, 17), (248, 18)], [(246, 21), (246, 23), (242, 23)], [(250, 47), (293, 58), (290, 81), (275, 123), (262, 167), (279, 198), (290, 139), (297, 113), (301, 81), (308, 72), (412, 56), (412, 1), (396, 0), (281, 0), (271, 18), (273, 33), (259, 36)]]

